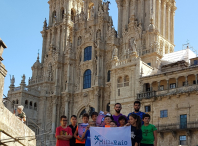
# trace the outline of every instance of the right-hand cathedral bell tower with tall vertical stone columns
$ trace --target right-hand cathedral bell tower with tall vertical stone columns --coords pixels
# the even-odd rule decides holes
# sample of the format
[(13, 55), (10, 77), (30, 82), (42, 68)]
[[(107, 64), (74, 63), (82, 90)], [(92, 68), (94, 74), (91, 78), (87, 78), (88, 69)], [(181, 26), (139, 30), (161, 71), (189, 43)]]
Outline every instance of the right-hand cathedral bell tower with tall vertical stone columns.
[(158, 68), (159, 58), (174, 51), (175, 0), (116, 0), (116, 2), (118, 37), (123, 39), (123, 42), (128, 41), (124, 42), (125, 44), (134, 38), (137, 43), (136, 51), (141, 59)]

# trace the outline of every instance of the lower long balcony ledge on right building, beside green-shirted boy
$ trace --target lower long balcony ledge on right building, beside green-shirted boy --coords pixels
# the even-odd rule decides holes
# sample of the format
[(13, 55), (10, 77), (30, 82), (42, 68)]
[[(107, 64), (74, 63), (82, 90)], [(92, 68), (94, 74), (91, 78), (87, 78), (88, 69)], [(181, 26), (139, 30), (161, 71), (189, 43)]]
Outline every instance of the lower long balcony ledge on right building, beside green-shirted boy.
[(193, 130), (198, 128), (198, 121), (188, 122), (186, 124), (181, 124), (181, 123), (160, 124), (160, 125), (156, 125), (156, 127), (158, 132)]

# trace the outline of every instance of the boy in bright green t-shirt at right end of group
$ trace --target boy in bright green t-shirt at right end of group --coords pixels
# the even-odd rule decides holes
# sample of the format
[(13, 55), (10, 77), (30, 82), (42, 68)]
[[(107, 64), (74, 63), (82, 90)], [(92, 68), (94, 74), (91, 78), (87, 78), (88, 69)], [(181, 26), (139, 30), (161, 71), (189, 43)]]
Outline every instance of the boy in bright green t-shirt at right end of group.
[(150, 115), (144, 114), (143, 119), (144, 125), (142, 125), (142, 141), (140, 146), (157, 146), (157, 128), (149, 124)]

